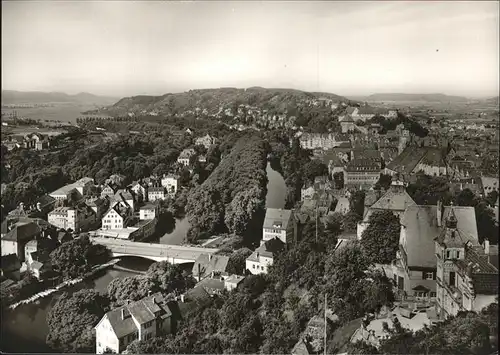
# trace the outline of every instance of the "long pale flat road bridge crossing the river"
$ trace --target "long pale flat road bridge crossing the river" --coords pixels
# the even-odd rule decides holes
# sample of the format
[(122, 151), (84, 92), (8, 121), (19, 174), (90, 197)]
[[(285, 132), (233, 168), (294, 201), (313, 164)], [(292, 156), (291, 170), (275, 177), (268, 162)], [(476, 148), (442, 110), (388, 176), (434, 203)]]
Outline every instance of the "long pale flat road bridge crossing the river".
[(90, 237), (95, 244), (111, 250), (113, 257), (139, 256), (154, 261), (168, 261), (171, 264), (193, 263), (201, 254), (215, 254), (216, 248), (133, 242), (114, 238)]

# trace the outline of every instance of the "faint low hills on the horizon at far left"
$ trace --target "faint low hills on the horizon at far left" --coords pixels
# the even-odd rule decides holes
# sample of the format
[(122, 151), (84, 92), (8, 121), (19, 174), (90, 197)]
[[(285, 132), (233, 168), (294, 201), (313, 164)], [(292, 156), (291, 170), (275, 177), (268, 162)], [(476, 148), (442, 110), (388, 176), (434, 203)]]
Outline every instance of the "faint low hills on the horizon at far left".
[(111, 105), (116, 101), (116, 98), (97, 96), (87, 92), (81, 92), (76, 95), (68, 95), (63, 92), (2, 90), (3, 105), (47, 103)]

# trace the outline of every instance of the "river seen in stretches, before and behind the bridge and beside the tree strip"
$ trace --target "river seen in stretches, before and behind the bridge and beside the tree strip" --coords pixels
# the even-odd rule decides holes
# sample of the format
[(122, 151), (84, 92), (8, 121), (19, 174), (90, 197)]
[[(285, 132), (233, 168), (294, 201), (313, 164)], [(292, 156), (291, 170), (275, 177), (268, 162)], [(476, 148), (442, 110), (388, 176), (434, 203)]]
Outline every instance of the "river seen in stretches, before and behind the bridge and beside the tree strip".
[[(277, 171), (271, 168), (269, 163), (266, 172), (268, 177), (266, 207), (283, 208), (286, 196), (285, 181)], [(174, 230), (161, 237), (160, 243), (182, 244), (185, 241), (188, 229), (187, 218), (176, 219)], [(132, 270), (145, 271), (151, 263), (152, 261), (146, 259), (130, 257), (120, 260), (117, 265)], [(94, 288), (99, 292), (106, 292), (111, 280), (134, 275), (136, 274), (133, 272), (108, 269), (102, 276), (94, 280), (84, 281), (63, 291), (76, 292), (83, 288)], [(53, 293), (35, 303), (19, 306), (8, 313), (2, 319), (0, 350), (17, 353), (54, 352), (45, 344), (45, 338), (48, 334), (46, 316), (63, 291)]]

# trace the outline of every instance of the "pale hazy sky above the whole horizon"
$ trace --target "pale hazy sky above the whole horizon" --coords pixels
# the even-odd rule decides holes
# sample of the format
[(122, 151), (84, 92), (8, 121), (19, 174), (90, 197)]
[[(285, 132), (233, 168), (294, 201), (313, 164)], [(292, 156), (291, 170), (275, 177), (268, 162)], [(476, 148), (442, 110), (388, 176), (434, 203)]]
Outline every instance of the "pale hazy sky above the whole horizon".
[(490, 2), (2, 2), (2, 89), (498, 95)]

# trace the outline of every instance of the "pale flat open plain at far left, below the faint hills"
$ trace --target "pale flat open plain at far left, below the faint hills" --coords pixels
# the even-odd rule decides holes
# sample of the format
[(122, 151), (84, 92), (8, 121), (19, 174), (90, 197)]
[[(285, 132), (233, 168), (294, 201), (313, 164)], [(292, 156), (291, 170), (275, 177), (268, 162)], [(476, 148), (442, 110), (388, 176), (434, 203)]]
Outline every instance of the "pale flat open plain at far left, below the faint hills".
[(54, 107), (34, 107), (34, 108), (2, 108), (2, 113), (6, 115), (17, 111), (19, 118), (31, 118), (33, 120), (61, 121), (76, 123), (76, 119), (83, 116), (81, 112), (93, 110), (93, 105), (60, 104)]

